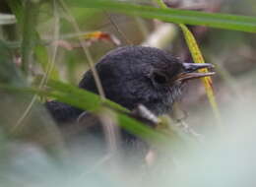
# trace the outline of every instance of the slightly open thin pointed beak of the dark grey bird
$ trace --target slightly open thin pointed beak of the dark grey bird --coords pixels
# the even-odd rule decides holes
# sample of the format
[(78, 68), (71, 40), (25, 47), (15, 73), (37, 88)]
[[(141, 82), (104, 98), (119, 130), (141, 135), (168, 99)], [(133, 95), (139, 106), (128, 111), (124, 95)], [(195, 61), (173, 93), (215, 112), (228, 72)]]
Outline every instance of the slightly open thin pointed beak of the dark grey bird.
[(215, 72), (196, 72), (204, 68), (214, 68), (213, 64), (208, 63), (182, 63), (184, 72), (178, 74), (177, 81), (185, 82), (192, 79), (198, 79), (215, 75)]

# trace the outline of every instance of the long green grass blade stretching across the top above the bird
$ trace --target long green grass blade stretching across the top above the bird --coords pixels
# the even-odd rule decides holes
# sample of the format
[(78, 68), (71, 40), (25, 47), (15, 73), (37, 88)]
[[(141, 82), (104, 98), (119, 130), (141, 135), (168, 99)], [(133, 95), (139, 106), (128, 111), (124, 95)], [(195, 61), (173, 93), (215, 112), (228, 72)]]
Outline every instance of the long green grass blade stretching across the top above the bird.
[(70, 6), (96, 8), (163, 22), (207, 26), (233, 31), (256, 32), (256, 18), (221, 13), (204, 13), (198, 11), (159, 9), (149, 6), (134, 5), (112, 0), (66, 0)]

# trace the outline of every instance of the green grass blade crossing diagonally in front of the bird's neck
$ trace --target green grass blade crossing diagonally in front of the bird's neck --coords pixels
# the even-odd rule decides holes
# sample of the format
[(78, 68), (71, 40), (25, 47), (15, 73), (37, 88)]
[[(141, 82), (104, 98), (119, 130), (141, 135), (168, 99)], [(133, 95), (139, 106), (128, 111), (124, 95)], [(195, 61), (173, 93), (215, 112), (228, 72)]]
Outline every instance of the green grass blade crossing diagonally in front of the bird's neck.
[(47, 91), (39, 90), (37, 88), (13, 87), (3, 84), (0, 85), (0, 88), (9, 92), (38, 94), (40, 96), (54, 97), (61, 102), (65, 102), (67, 104), (93, 112), (100, 111), (100, 108), (107, 104), (111, 106), (109, 107), (110, 109), (113, 108), (116, 112), (118, 123), (122, 128), (126, 129), (132, 134), (143, 138), (146, 141), (162, 145), (171, 143), (172, 139), (174, 139), (174, 142), (179, 141), (180, 139), (180, 137), (167, 137), (162, 133), (151, 129), (150, 127), (147, 127), (142, 122), (129, 117), (126, 114), (129, 111), (115, 102), (105, 99), (105, 102), (102, 103), (99, 95), (73, 87), (68, 84), (64, 84), (59, 81), (50, 80), (48, 82), (49, 90)]

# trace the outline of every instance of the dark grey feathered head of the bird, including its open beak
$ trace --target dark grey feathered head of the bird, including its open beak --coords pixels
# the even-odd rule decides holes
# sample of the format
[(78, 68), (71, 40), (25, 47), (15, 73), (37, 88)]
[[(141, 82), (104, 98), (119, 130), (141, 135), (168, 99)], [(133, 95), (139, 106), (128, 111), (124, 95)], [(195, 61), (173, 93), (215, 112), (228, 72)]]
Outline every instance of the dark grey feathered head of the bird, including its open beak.
[[(196, 72), (209, 67), (213, 66), (181, 62), (158, 48), (126, 46), (103, 56), (96, 64), (96, 71), (107, 98), (128, 109), (141, 103), (160, 115), (171, 109), (186, 81), (213, 75), (213, 72)], [(79, 86), (97, 93), (91, 71)]]

